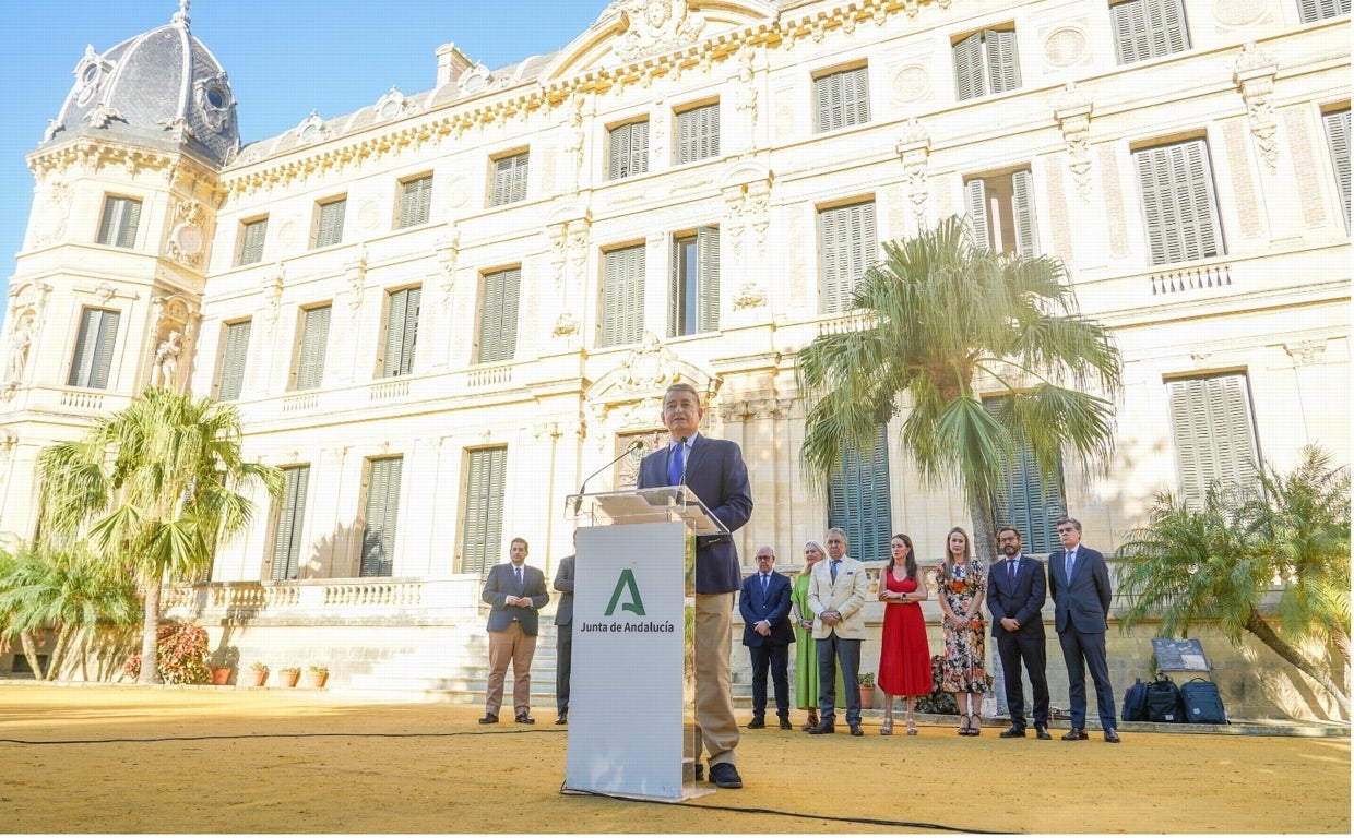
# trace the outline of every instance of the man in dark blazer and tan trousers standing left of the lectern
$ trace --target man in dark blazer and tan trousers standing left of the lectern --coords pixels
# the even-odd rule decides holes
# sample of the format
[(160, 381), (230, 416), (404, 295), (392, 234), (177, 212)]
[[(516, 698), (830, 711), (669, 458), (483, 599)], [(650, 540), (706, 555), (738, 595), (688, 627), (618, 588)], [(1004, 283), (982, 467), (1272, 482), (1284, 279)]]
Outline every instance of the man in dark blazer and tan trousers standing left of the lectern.
[(517, 724), (535, 724), (531, 718), (531, 659), (536, 654), (540, 609), (550, 601), (546, 574), (527, 565), (527, 539), (513, 539), (508, 548), (512, 559), (496, 565), (485, 581), (479, 598), (489, 602), (489, 682), (485, 690), (485, 716), (481, 724), (498, 722), (504, 703), (504, 678), (512, 662), (512, 703)]

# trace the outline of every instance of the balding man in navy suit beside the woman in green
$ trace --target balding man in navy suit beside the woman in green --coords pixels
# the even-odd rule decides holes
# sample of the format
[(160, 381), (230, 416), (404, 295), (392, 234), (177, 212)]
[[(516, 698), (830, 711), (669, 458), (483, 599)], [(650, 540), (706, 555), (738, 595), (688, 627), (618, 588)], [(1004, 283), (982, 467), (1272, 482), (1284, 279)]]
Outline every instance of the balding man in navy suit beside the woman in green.
[(776, 573), (776, 551), (757, 550), (757, 573), (743, 579), (738, 611), (743, 616), (743, 646), (753, 659), (753, 720), (749, 728), (766, 727), (766, 670), (776, 686), (780, 730), (789, 724), (789, 577)]

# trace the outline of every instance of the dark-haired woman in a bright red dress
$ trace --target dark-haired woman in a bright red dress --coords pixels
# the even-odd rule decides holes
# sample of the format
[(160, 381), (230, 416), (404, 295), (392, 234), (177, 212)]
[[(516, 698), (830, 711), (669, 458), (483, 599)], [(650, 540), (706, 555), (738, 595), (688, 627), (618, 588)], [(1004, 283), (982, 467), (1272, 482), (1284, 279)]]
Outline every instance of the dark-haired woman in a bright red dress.
[(907, 735), (917, 735), (917, 696), (934, 688), (930, 670), (930, 644), (926, 642), (926, 617), (919, 602), (930, 596), (926, 578), (917, 573), (913, 540), (895, 535), (892, 556), (880, 574), (879, 601), (884, 602), (884, 631), (879, 654), (879, 689), (884, 690), (884, 726), (879, 732), (894, 732), (894, 696), (907, 699)]

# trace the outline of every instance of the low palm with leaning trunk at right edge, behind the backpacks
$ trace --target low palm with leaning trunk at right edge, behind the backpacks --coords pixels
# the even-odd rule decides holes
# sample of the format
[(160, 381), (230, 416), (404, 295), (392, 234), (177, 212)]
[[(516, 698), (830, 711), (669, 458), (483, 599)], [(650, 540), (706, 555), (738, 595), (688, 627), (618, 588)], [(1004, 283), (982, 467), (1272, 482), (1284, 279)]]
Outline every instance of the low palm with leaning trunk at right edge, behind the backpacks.
[[(1311, 460), (1305, 463), (1311, 464)], [(1284, 483), (1303, 482), (1303, 468)], [(1270, 472), (1273, 478), (1273, 472)], [(1334, 481), (1335, 485), (1339, 479)], [(1327, 486), (1330, 487), (1330, 485)], [(1274, 489), (1274, 486), (1271, 486)], [(1294, 521), (1288, 509), (1288, 501), (1270, 498), (1259, 501), (1267, 506), (1263, 512), (1257, 501), (1235, 487), (1215, 483), (1204, 495), (1200, 508), (1192, 508), (1170, 493), (1160, 493), (1152, 502), (1147, 527), (1129, 532), (1120, 546), (1120, 563), (1116, 570), (1120, 592), (1132, 602), (1122, 616), (1121, 627), (1128, 631), (1137, 623), (1159, 617), (1159, 636), (1189, 636), (1193, 624), (1208, 621), (1215, 624), (1235, 646), (1240, 646), (1243, 632), (1255, 635), (1265, 646), (1320, 684), (1345, 711), (1350, 712), (1349, 692), (1335, 682), (1330, 671), (1319, 662), (1305, 655), (1293, 640), (1308, 636), (1312, 627), (1326, 627), (1331, 617), (1327, 611), (1326, 592), (1343, 578), (1343, 592), (1331, 596), (1343, 597), (1343, 623), (1339, 619), (1331, 624), (1339, 625), (1345, 642), (1349, 638), (1349, 482), (1345, 478), (1343, 498), (1326, 495), (1334, 509), (1327, 516), (1311, 516), (1307, 520), (1326, 519), (1328, 528), (1292, 528), (1275, 525), (1275, 521)], [(1343, 506), (1343, 512), (1339, 508)], [(1343, 552), (1335, 552), (1340, 536), (1332, 532), (1339, 527), (1343, 514)], [(1313, 535), (1316, 529), (1323, 535)], [(1320, 550), (1304, 554), (1301, 546), (1324, 544)], [(1304, 555), (1304, 573), (1312, 571), (1313, 579), (1296, 581), (1294, 558)], [(1271, 625), (1262, 615), (1267, 594), (1281, 585), (1284, 620)], [(1305, 592), (1305, 593), (1304, 593)], [(1297, 615), (1305, 608), (1305, 619)], [(1292, 627), (1292, 628), (1290, 628)], [(1292, 634), (1289, 634), (1292, 632)]]

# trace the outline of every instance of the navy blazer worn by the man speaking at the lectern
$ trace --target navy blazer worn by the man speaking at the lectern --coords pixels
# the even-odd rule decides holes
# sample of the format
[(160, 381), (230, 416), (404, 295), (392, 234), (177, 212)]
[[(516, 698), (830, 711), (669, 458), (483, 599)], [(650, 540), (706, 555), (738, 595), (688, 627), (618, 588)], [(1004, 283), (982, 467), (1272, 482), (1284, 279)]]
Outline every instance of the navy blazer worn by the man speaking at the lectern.
[[(668, 462), (672, 445), (650, 454), (639, 463), (639, 487), (672, 486)], [(686, 486), (696, 493), (719, 521), (737, 532), (753, 514), (753, 494), (747, 466), (737, 443), (712, 440), (697, 433), (686, 460)], [(738, 548), (731, 536), (696, 537), (696, 593), (733, 593), (742, 583)]]

